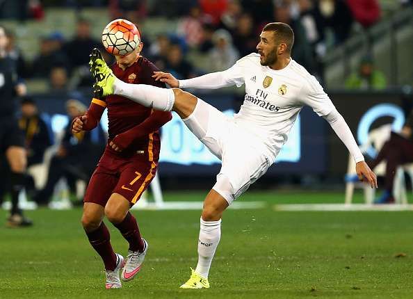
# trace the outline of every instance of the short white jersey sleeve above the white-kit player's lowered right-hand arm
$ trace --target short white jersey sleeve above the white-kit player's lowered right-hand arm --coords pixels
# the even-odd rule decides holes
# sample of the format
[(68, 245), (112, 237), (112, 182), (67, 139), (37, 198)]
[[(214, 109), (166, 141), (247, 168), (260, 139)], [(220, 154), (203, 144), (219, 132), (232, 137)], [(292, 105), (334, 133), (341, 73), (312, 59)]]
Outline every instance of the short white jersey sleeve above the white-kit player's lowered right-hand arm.
[(330, 97), (323, 90), (321, 84), (314, 76), (310, 76), (306, 81), (299, 95), (302, 104), (310, 106), (318, 116), (328, 115), (335, 109)]

